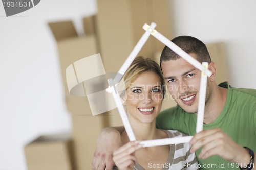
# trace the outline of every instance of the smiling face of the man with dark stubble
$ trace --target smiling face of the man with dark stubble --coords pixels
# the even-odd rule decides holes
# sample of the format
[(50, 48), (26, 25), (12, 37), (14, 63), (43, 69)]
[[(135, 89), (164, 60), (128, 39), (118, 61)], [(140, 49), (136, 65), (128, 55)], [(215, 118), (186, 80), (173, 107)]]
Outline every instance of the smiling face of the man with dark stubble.
[[(194, 54), (190, 55), (196, 58)], [(163, 61), (161, 67), (167, 88), (177, 104), (188, 113), (197, 113), (201, 71), (183, 58)]]

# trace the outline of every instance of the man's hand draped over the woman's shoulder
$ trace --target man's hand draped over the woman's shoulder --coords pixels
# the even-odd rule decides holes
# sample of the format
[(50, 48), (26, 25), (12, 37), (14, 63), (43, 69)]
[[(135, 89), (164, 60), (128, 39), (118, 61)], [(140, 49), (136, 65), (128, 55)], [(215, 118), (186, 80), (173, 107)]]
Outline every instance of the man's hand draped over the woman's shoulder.
[(124, 127), (104, 128), (97, 139), (97, 147), (93, 155), (93, 170), (112, 170), (114, 166), (113, 152), (121, 147), (121, 134)]

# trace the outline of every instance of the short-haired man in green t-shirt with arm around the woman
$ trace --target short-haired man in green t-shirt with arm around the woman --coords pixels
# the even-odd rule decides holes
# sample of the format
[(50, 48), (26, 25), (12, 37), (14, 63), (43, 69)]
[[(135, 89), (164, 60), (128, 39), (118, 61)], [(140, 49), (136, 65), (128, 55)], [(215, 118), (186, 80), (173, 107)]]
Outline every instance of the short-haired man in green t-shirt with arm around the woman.
[[(203, 42), (189, 36), (179, 36), (172, 41), (200, 63), (209, 63), (212, 76), (207, 81), (204, 127), (196, 134), (201, 72), (165, 47), (160, 66), (168, 90), (178, 105), (160, 113), (157, 128), (194, 135), (190, 152), (196, 152), (201, 169), (255, 169), (256, 90), (232, 88), (227, 82), (218, 86), (215, 63), (211, 62)], [(120, 133), (113, 128), (101, 133), (93, 169), (112, 169), (111, 153), (119, 148), (119, 141)]]

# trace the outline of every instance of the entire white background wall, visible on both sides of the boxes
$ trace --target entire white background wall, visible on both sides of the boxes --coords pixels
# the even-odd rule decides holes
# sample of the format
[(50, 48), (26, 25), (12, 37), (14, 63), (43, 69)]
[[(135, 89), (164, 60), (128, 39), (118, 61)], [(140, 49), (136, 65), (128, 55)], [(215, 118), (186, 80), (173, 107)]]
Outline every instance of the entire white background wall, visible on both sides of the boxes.
[[(230, 83), (256, 88), (256, 2), (170, 2), (174, 35), (225, 42)], [(41, 0), (13, 17), (5, 17), (0, 5), (0, 169), (25, 170), (26, 143), (40, 134), (71, 131), (58, 53), (47, 22), (72, 19), (82, 33), (82, 16), (95, 12), (94, 0)]]

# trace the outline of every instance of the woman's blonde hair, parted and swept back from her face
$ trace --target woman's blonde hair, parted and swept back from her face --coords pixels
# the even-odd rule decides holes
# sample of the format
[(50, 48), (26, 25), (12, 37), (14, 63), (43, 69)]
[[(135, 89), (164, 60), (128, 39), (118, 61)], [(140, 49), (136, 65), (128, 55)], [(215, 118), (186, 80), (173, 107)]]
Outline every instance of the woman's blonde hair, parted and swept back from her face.
[(134, 82), (135, 79), (139, 77), (143, 72), (154, 72), (160, 79), (161, 89), (163, 91), (163, 96), (165, 94), (165, 81), (163, 74), (161, 72), (160, 66), (150, 58), (144, 58), (142, 56), (138, 56), (134, 59), (130, 67), (124, 74), (124, 82), (125, 87), (129, 87), (130, 83)]

